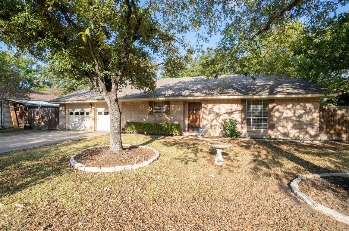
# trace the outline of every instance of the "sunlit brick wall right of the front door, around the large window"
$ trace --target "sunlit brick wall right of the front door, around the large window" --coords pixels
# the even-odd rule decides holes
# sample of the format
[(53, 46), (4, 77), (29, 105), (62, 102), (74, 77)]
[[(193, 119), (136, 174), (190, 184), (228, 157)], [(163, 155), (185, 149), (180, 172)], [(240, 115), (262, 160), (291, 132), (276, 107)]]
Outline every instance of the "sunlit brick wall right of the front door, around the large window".
[[(224, 119), (235, 116), (241, 125), (240, 100), (202, 101), (201, 125), (205, 135), (220, 136)], [(319, 139), (319, 99), (275, 99), (275, 130), (242, 130), (243, 136), (290, 139), (308, 137)]]

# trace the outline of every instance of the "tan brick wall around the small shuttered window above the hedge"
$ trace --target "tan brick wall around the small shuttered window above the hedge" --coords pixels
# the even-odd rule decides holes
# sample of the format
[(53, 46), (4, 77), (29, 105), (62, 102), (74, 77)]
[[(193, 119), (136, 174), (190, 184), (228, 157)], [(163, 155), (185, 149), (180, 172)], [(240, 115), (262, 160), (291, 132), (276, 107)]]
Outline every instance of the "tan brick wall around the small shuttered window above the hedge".
[(121, 126), (126, 122), (147, 122), (147, 123), (178, 123), (181, 131), (185, 130), (185, 119), (183, 119), (185, 103), (183, 101), (170, 101), (169, 115), (149, 115), (148, 101), (122, 102)]

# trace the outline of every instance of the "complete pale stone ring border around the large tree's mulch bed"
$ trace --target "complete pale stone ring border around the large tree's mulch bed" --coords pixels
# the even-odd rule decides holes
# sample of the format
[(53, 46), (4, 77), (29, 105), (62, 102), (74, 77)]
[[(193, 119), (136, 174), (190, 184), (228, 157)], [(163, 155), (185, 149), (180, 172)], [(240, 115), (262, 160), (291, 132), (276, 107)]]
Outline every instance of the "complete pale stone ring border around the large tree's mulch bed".
[(123, 144), (122, 146), (131, 146), (131, 147), (139, 147), (139, 148), (149, 148), (155, 152), (155, 156), (151, 158), (150, 160), (144, 161), (143, 163), (139, 164), (132, 164), (132, 165), (123, 165), (123, 166), (115, 166), (115, 167), (87, 167), (86, 165), (83, 165), (81, 163), (78, 163), (74, 160), (74, 157), (77, 154), (80, 154), (83, 151), (86, 151), (91, 148), (98, 148), (98, 147), (110, 147), (110, 145), (103, 145), (103, 146), (95, 146), (95, 147), (89, 147), (86, 149), (81, 150), (80, 152), (75, 153), (72, 157), (70, 157), (70, 165), (72, 165), (74, 168), (77, 168), (79, 170), (85, 171), (85, 172), (116, 172), (116, 171), (122, 171), (122, 170), (131, 170), (131, 169), (137, 169), (145, 166), (149, 166), (151, 163), (153, 163), (155, 160), (159, 159), (160, 153), (156, 151), (154, 148), (148, 147), (148, 146), (140, 146), (140, 145), (132, 145), (132, 144)]

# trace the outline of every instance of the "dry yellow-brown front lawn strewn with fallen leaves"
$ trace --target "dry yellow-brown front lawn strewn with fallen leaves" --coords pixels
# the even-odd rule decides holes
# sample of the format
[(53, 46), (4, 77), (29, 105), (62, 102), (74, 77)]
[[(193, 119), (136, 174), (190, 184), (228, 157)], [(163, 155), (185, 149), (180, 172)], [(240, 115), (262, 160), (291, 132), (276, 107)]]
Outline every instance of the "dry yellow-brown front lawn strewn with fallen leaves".
[[(299, 175), (349, 172), (349, 142), (206, 141), (123, 136), (157, 149), (150, 167), (89, 173), (68, 166), (109, 136), (1, 156), (1, 230), (349, 230), (292, 196)], [(226, 142), (226, 141), (224, 141)], [(214, 177), (212, 177), (212, 176)]]

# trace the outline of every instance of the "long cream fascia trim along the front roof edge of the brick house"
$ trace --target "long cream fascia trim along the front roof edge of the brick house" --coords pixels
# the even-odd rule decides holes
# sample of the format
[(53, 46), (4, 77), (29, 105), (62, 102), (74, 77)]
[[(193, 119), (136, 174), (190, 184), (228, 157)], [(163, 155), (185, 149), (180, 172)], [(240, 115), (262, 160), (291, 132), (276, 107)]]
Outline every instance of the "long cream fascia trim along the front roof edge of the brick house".
[[(218, 95), (218, 96), (191, 96), (191, 97), (149, 97), (149, 98), (132, 98), (119, 99), (120, 102), (126, 101), (154, 101), (154, 100), (195, 100), (195, 99), (253, 99), (253, 98), (328, 98), (338, 94), (293, 94), (293, 95)], [(76, 100), (76, 101), (57, 101), (51, 103), (81, 103), (81, 102), (105, 102), (105, 100)]]

